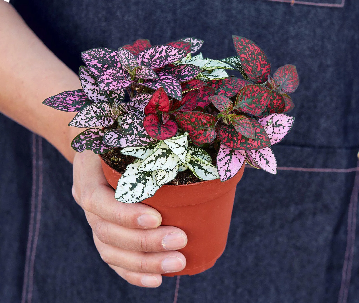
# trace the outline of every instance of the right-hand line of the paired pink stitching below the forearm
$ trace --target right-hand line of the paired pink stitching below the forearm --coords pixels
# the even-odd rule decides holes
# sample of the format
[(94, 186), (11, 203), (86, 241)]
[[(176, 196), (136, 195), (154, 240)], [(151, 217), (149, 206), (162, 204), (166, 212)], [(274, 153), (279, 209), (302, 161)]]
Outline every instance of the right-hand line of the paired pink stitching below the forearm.
[(30, 273), (29, 273), (29, 293), (27, 296), (28, 303), (31, 303), (32, 300), (32, 291), (33, 291), (33, 278), (34, 278), (34, 263), (35, 263), (35, 255), (37, 248), (37, 241), (39, 239), (39, 230), (40, 230), (40, 219), (41, 219), (41, 200), (42, 200), (42, 138), (39, 137), (39, 187), (38, 187), (38, 195), (37, 195), (37, 215), (36, 215), (36, 227), (35, 227), (35, 235), (34, 235), (34, 243), (32, 246), (32, 254), (30, 261)]

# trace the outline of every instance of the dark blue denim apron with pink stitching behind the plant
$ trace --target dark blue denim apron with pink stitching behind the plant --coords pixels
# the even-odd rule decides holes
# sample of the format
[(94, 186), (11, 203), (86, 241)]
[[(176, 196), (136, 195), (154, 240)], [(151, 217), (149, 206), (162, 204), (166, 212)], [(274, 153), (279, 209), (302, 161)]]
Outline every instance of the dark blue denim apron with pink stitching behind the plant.
[(156, 289), (100, 259), (71, 165), (0, 116), (0, 302), (359, 302), (359, 1), (312, 1), (11, 0), (75, 72), (81, 51), (138, 38), (193, 36), (205, 56), (233, 56), (235, 34), (260, 45), (274, 71), (295, 64), (300, 85), (293, 129), (273, 147), (279, 173), (246, 169), (222, 257)]

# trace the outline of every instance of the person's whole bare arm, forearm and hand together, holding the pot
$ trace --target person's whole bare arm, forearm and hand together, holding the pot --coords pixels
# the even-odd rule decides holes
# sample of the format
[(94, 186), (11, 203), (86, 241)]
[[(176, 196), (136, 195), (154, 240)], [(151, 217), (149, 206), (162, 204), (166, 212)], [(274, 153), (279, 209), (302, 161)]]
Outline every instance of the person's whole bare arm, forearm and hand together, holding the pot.
[(81, 131), (67, 126), (75, 114), (41, 102), (81, 88), (78, 76), (1, 0), (0, 41), (0, 112), (45, 138), (73, 163), (72, 193), (85, 212), (101, 258), (123, 279), (141, 287), (158, 287), (161, 273), (182, 270), (186, 259), (176, 249), (187, 244), (185, 232), (160, 226), (161, 215), (150, 206), (118, 202), (98, 156), (71, 149), (71, 140)]

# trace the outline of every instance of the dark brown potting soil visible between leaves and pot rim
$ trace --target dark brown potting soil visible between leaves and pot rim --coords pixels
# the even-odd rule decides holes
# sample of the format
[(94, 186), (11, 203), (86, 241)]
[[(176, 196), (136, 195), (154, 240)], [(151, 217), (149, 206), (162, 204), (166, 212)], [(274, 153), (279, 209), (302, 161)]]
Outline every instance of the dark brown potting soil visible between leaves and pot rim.
[[(217, 152), (214, 148), (205, 148), (207, 153), (211, 155), (212, 164), (215, 165)], [(103, 160), (117, 172), (123, 174), (128, 164), (134, 162), (137, 158), (121, 154), (121, 148), (114, 148), (108, 153), (101, 155)], [(179, 172), (171, 182), (166, 185), (185, 185), (191, 183), (201, 182), (202, 180), (197, 178), (191, 170), (187, 169), (184, 172)]]

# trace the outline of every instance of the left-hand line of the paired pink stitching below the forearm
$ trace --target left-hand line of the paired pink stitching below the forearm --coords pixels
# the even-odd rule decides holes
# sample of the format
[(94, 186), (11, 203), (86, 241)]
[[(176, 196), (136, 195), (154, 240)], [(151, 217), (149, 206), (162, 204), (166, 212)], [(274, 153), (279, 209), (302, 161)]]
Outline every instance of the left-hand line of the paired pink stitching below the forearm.
[(28, 273), (29, 273), (29, 263), (30, 263), (30, 254), (31, 254), (31, 243), (34, 227), (34, 216), (35, 216), (35, 197), (36, 197), (36, 181), (37, 181), (37, 172), (36, 172), (36, 135), (32, 134), (32, 189), (31, 189), (31, 213), (30, 213), (30, 223), (29, 223), (29, 236), (27, 240), (27, 249), (26, 249), (26, 259), (25, 259), (25, 270), (24, 270), (24, 282), (23, 290), (21, 296), (21, 303), (24, 303), (26, 300), (26, 291), (27, 291), (27, 282), (28, 282)]

